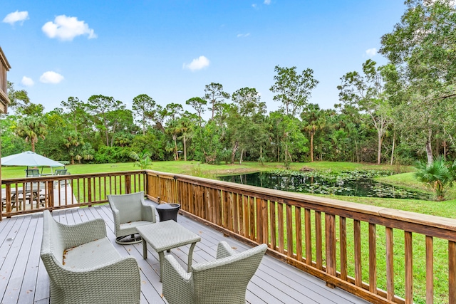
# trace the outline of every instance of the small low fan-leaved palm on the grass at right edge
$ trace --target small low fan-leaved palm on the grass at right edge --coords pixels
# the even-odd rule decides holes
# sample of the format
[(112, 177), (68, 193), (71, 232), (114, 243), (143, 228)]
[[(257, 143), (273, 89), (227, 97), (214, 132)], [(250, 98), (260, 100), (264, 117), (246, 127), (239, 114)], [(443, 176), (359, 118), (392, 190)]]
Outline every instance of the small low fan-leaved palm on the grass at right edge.
[(439, 155), (434, 161), (428, 164), (427, 162), (418, 161), (415, 166), (418, 171), (415, 172), (416, 177), (420, 182), (427, 184), (434, 190), (437, 195), (437, 201), (442, 201), (445, 196), (446, 188), (452, 185), (455, 177), (452, 174), (456, 164), (451, 165), (451, 169), (445, 164), (445, 160)]

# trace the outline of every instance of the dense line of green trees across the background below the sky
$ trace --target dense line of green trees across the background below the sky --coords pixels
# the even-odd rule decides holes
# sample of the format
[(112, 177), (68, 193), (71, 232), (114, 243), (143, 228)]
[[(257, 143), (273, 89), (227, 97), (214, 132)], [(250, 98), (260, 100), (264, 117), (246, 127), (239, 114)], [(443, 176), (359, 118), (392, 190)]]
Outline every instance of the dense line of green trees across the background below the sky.
[(182, 104), (161, 105), (141, 94), (128, 109), (111, 96), (92, 95), (69, 97), (45, 113), (9, 83), (2, 154), (36, 150), (71, 163), (126, 162), (132, 152), (213, 164), (455, 159), (455, 7), (449, 0), (405, 4), (400, 22), (381, 38), (379, 52), (388, 63), (368, 60), (342, 75), (333, 109), (311, 103), (318, 85), (311, 68), (279, 65), (270, 90), (281, 106), (273, 112), (255, 88), (228, 93), (209, 83)]

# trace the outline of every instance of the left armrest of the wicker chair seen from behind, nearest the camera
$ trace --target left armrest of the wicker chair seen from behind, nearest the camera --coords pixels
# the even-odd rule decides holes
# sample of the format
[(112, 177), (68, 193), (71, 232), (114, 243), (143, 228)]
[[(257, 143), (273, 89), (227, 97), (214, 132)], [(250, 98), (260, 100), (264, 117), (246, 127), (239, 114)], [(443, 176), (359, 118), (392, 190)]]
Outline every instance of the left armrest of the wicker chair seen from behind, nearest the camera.
[(162, 271), (162, 293), (170, 304), (192, 303), (192, 273), (187, 273), (174, 256), (165, 256)]

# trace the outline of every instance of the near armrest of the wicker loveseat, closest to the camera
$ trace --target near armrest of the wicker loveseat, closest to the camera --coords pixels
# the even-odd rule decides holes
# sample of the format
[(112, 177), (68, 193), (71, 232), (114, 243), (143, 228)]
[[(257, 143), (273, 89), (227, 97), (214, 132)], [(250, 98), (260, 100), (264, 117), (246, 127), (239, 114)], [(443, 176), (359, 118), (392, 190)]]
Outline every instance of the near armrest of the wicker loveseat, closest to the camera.
[(132, 256), (89, 269), (59, 268), (49, 276), (74, 303), (140, 303), (140, 271)]

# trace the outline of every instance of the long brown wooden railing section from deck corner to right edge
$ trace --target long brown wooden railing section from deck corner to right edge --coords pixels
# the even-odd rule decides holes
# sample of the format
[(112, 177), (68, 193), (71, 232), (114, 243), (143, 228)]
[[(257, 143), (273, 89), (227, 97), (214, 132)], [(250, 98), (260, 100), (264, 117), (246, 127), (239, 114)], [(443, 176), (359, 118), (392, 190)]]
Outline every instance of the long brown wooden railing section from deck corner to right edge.
[[(442, 303), (456, 304), (455, 219), (183, 174), (146, 174), (150, 199), (179, 203), (187, 216), (247, 243), (267, 243), (269, 254), (331, 287), (372, 303), (413, 303), (421, 289), (413, 288), (415, 283), (425, 290), (426, 303), (440, 297)], [(421, 258), (414, 251), (420, 236), (425, 248), (423, 283), (413, 276), (413, 259)], [(447, 242), (446, 266), (435, 261), (435, 240)], [(378, 252), (378, 242), (385, 244), (383, 252)], [(399, 264), (403, 273), (398, 273)], [(434, 280), (437, 266), (448, 272), (448, 294), (443, 298), (434, 295), (434, 285), (442, 284)]]

